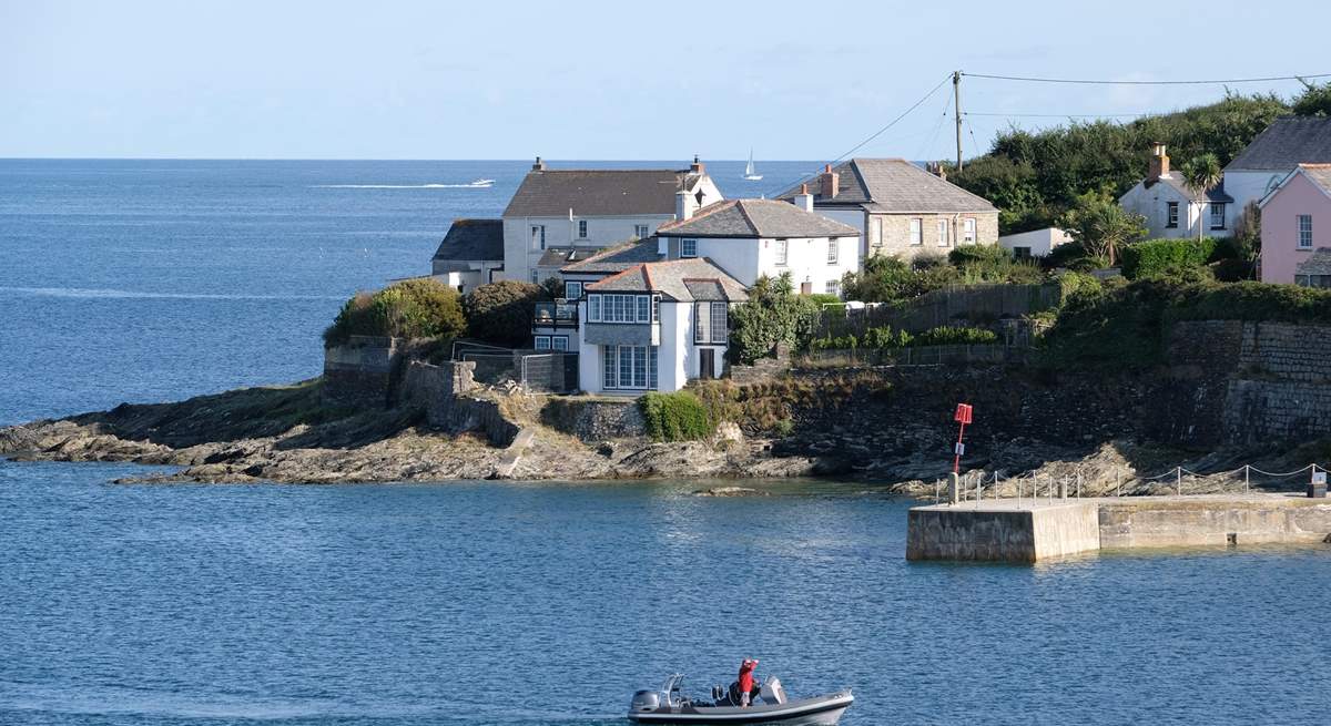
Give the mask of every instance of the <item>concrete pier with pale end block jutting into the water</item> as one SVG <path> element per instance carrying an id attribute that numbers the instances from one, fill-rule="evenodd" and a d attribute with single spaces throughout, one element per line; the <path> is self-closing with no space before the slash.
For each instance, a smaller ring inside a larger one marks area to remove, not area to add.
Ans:
<path id="1" fill-rule="evenodd" d="M 986 500 L 910 509 L 906 560 L 1034 562 L 1109 548 L 1320 543 L 1331 499 L 1199 495 Z"/>

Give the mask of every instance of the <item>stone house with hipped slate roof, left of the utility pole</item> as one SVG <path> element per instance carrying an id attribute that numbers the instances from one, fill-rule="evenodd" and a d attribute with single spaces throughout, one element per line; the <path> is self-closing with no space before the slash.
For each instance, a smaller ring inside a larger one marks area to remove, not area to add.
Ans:
<path id="1" fill-rule="evenodd" d="M 901 158 L 852 158 L 777 195 L 812 194 L 813 211 L 860 230 L 861 259 L 946 254 L 960 245 L 996 245 L 998 209 L 988 199 Z"/>

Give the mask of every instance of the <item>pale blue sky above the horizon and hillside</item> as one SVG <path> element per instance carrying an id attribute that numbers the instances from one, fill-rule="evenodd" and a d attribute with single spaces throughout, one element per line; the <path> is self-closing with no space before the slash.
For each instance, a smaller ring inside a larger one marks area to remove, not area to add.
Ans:
<path id="1" fill-rule="evenodd" d="M 1328 27 L 1315 0 L 0 0 L 0 157 L 833 160 L 937 86 L 856 156 L 952 158 L 953 70 L 1331 73 Z M 1225 88 L 964 77 L 961 92 L 969 157 L 1010 124 Z"/>

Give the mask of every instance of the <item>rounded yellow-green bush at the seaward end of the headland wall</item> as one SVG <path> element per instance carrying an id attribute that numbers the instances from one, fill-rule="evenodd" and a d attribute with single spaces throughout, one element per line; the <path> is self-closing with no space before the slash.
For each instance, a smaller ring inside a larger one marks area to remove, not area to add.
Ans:
<path id="1" fill-rule="evenodd" d="M 341 346 L 351 335 L 455 338 L 466 327 L 457 290 L 433 278 L 407 279 L 347 301 L 323 331 L 323 344 Z"/>

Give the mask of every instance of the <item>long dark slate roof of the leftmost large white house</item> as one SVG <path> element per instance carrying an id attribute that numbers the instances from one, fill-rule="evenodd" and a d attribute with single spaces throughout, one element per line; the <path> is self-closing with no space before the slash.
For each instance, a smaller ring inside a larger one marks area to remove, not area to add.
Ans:
<path id="1" fill-rule="evenodd" d="M 675 193 L 692 191 L 701 174 L 671 169 L 532 170 L 504 217 L 631 217 L 675 214 Z"/>

